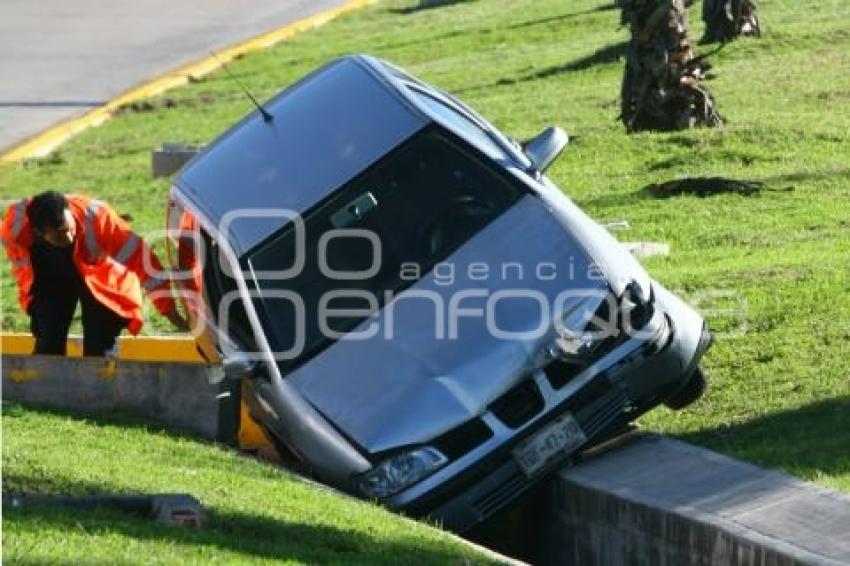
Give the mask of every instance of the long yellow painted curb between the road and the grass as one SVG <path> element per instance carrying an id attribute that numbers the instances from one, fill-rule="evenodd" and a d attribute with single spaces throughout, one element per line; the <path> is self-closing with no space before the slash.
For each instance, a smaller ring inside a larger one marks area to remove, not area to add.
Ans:
<path id="1" fill-rule="evenodd" d="M 82 132 L 86 128 L 102 124 L 108 120 L 116 110 L 125 104 L 149 98 L 175 86 L 186 84 L 189 81 L 189 77 L 202 77 L 220 67 L 222 62 L 227 63 L 228 61 L 232 61 L 236 57 L 246 53 L 271 47 L 276 43 L 303 31 L 324 25 L 346 12 L 362 8 L 369 4 L 370 1 L 371 0 L 352 0 L 338 8 L 331 8 L 329 10 L 319 12 L 318 14 L 298 20 L 297 22 L 293 22 L 269 33 L 265 33 L 253 39 L 249 39 L 248 41 L 228 47 L 216 53 L 215 57 L 205 57 L 199 61 L 195 61 L 194 63 L 183 65 L 182 67 L 174 69 L 170 73 L 166 73 L 159 78 L 142 83 L 136 88 L 128 90 L 106 105 L 96 108 L 79 118 L 59 123 L 35 137 L 12 147 L 0 155 L 0 162 L 12 163 L 20 161 L 21 159 L 47 155 L 56 149 L 56 147 L 62 142 Z"/>

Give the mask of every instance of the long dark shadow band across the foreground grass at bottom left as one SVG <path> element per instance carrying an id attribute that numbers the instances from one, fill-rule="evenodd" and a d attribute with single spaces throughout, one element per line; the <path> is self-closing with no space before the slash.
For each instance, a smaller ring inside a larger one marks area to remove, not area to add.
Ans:
<path id="1" fill-rule="evenodd" d="M 213 551 L 239 553 L 249 560 L 297 561 L 307 564 L 352 561 L 395 563 L 406 558 L 417 564 L 446 564 L 459 560 L 458 554 L 450 548 L 435 548 L 426 541 L 417 544 L 414 536 L 410 537 L 410 541 L 377 540 L 353 529 L 237 512 L 212 510 L 207 526 L 193 529 L 103 509 L 81 511 L 33 507 L 8 508 L 4 511 L 4 523 L 14 522 L 15 532 L 37 533 L 56 529 L 65 533 L 102 536 L 104 544 L 115 544 L 107 539 L 120 533 L 136 540 L 160 542 L 169 546 L 200 546 L 209 547 Z M 116 554 L 119 552 L 116 551 Z M 172 551 L 168 552 L 170 554 Z M 204 554 L 209 555 L 208 552 Z"/>

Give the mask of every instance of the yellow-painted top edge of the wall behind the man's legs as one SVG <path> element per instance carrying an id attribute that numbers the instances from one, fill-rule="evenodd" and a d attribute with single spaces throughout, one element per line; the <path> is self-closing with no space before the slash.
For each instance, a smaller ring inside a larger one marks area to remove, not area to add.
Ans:
<path id="1" fill-rule="evenodd" d="M 29 334 L 4 332 L 0 334 L 0 353 L 28 356 L 35 341 Z M 83 339 L 68 339 L 68 356 L 83 355 Z M 118 359 L 133 362 L 206 363 L 195 346 L 195 340 L 184 336 L 127 336 L 118 339 Z"/>

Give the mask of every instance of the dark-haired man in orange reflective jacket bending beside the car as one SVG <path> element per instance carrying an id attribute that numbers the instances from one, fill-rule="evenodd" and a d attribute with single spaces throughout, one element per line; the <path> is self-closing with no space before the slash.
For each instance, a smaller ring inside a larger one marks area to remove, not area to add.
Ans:
<path id="1" fill-rule="evenodd" d="M 21 199 L 6 212 L 0 235 L 36 354 L 65 354 L 77 301 L 86 356 L 113 350 L 123 328 L 139 332 L 142 289 L 172 324 L 186 326 L 156 255 L 101 201 L 55 191 Z"/>

